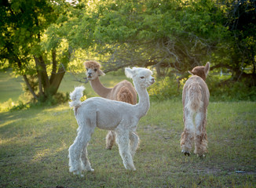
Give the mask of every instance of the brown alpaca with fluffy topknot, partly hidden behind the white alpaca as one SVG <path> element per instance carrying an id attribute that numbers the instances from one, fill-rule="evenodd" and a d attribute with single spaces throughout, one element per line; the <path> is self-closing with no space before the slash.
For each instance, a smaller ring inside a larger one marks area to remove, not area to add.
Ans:
<path id="1" fill-rule="evenodd" d="M 97 94 L 106 99 L 123 101 L 130 104 L 137 104 L 137 92 L 130 81 L 120 81 L 113 88 L 106 88 L 101 84 L 99 76 L 104 75 L 100 63 L 97 61 L 86 61 L 86 75 L 90 85 Z M 106 136 L 106 149 L 111 150 L 115 143 L 115 132 L 109 131 Z"/>

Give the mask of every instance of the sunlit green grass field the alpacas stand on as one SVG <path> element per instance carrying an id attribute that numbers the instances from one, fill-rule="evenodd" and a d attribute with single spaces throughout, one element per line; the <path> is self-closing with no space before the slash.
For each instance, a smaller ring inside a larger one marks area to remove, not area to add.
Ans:
<path id="1" fill-rule="evenodd" d="M 70 92 L 74 85 L 65 79 L 60 89 Z M 90 85 L 86 89 L 90 93 Z M 153 101 L 137 127 L 141 139 L 134 157 L 137 171 L 123 167 L 117 146 L 104 150 L 107 132 L 96 128 L 88 146 L 95 172 L 79 178 L 68 172 L 68 147 L 78 128 L 68 103 L 2 112 L 0 187 L 255 187 L 255 120 L 254 102 L 210 103 L 209 153 L 204 159 L 195 154 L 185 157 L 179 146 L 181 99 Z"/>

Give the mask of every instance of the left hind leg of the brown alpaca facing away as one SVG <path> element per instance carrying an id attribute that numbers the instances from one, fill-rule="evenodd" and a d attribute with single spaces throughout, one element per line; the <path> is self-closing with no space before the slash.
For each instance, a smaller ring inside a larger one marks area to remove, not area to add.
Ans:
<path id="1" fill-rule="evenodd" d="M 185 128 L 181 134 L 181 152 L 189 156 L 192 150 L 192 140 L 194 139 L 195 126 L 193 124 L 193 113 L 186 108 L 183 115 L 183 121 Z"/>

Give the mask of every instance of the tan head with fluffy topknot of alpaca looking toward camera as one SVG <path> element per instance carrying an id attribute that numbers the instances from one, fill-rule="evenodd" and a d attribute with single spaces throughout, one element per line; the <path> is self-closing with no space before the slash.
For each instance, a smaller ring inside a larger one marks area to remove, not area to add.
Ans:
<path id="1" fill-rule="evenodd" d="M 97 63 L 97 61 L 93 61 L 93 60 L 86 61 L 84 65 L 86 67 L 86 76 L 89 81 L 92 81 L 95 78 L 104 75 L 104 72 L 101 71 L 100 69 L 101 64 Z"/>

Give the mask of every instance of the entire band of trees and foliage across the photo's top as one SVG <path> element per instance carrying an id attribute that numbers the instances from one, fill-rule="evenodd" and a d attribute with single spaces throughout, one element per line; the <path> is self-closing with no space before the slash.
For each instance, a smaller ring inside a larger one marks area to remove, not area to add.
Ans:
<path id="1" fill-rule="evenodd" d="M 0 68 L 23 76 L 35 99 L 57 93 L 68 68 L 152 66 L 159 75 L 207 61 L 255 80 L 255 0 L 4 0 Z M 74 63 L 75 62 L 75 63 Z M 31 78 L 36 78 L 33 82 Z M 252 82 L 255 85 L 256 80 Z"/>

